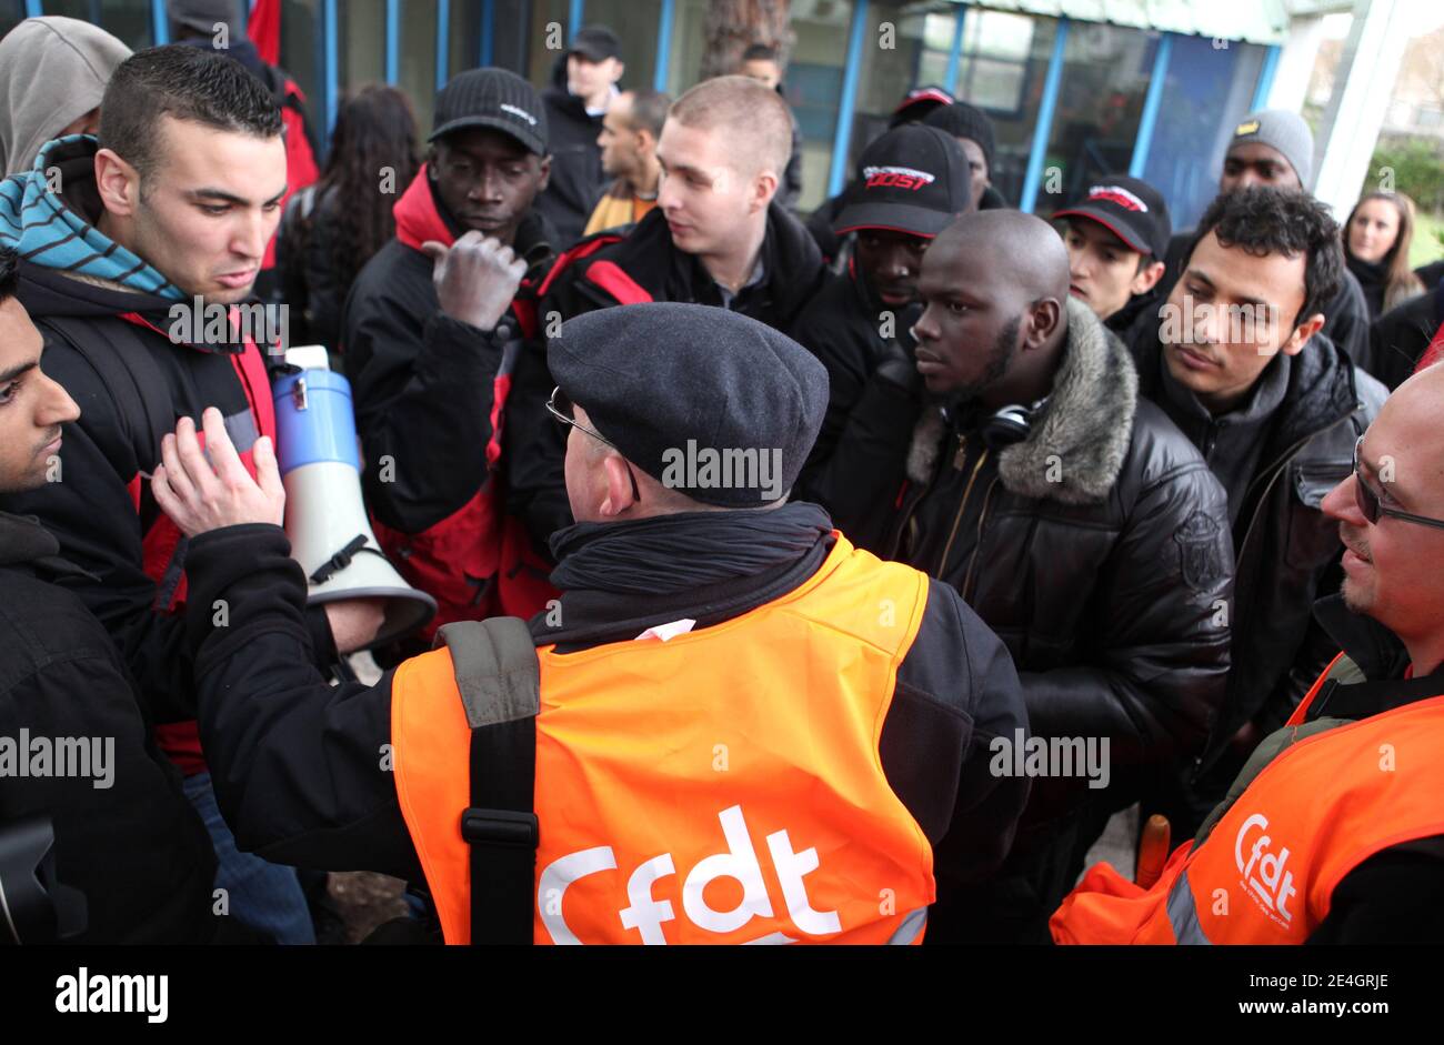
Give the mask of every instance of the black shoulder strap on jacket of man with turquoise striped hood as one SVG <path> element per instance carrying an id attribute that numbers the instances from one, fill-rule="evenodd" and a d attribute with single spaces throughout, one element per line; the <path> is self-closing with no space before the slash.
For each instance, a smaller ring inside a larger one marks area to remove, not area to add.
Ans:
<path id="1" fill-rule="evenodd" d="M 97 335 L 94 319 L 43 316 L 36 323 L 85 357 L 116 400 L 116 413 L 130 434 L 136 463 L 143 469 L 153 466 L 160 459 L 160 439 L 175 430 L 176 419 L 168 394 L 170 384 L 140 333 L 118 316 L 105 322 L 103 336 Z"/>

